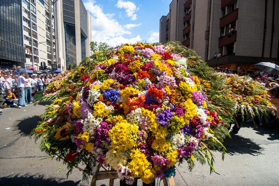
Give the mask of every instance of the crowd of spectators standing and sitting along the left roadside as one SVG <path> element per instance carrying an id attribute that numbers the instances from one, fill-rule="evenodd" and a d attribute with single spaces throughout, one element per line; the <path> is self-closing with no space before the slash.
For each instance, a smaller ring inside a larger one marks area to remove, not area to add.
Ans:
<path id="1" fill-rule="evenodd" d="M 32 104 L 32 97 L 42 91 L 56 77 L 55 73 L 17 72 L 20 67 L 13 66 L 0 73 L 0 107 L 22 108 Z M 2 115 L 2 111 L 0 111 Z"/>

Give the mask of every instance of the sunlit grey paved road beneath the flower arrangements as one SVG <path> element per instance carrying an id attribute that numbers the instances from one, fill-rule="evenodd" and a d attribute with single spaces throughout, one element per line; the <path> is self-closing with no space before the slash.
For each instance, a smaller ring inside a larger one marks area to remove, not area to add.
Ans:
<path id="1" fill-rule="evenodd" d="M 0 116 L 0 185 L 87 185 L 80 180 L 78 170 L 66 179 L 67 168 L 62 162 L 39 160 L 47 155 L 39 150 L 39 142 L 35 144 L 28 134 L 44 108 L 44 105 L 29 105 L 3 110 Z M 8 127 L 11 129 L 5 129 Z M 217 173 L 210 175 L 208 166 L 198 163 L 193 172 L 189 172 L 187 164 L 183 164 L 177 167 L 176 185 L 279 185 L 277 129 L 254 129 L 252 123 L 244 123 L 239 133 L 226 139 L 224 145 L 227 147 L 224 162 L 221 153 L 214 153 Z M 61 171 L 56 173 L 59 167 Z M 108 185 L 108 180 L 97 181 L 97 185 Z M 119 181 L 114 185 L 119 185 Z"/>

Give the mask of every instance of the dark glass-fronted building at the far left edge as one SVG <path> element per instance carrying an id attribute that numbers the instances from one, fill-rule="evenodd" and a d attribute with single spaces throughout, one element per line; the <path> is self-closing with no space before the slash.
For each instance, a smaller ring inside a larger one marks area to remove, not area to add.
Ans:
<path id="1" fill-rule="evenodd" d="M 0 1 L 0 65 L 24 65 L 21 1 Z"/>

